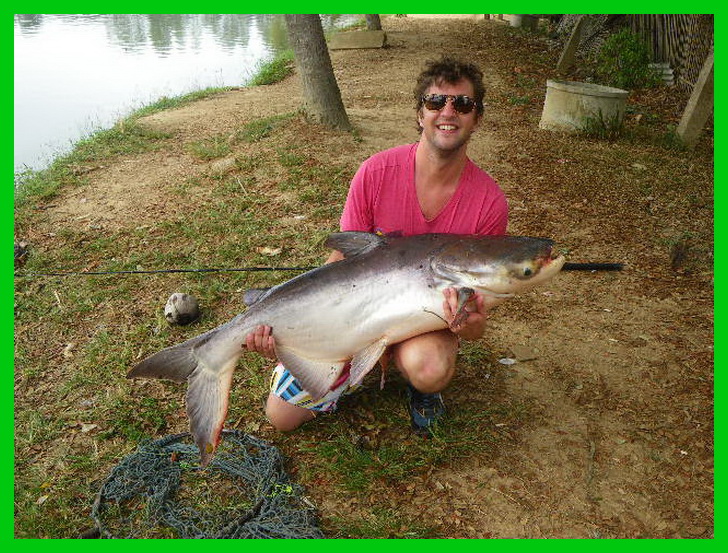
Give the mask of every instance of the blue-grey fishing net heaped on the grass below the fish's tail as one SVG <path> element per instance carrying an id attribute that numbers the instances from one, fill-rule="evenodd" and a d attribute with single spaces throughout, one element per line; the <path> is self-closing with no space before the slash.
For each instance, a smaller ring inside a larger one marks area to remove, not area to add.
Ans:
<path id="1" fill-rule="evenodd" d="M 323 538 L 280 452 L 223 431 L 205 469 L 189 433 L 143 443 L 111 471 L 91 509 L 102 538 Z"/>

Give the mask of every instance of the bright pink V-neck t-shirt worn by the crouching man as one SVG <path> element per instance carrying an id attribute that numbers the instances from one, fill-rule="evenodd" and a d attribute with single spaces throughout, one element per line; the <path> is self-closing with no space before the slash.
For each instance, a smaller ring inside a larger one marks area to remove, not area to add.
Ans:
<path id="1" fill-rule="evenodd" d="M 447 205 L 425 219 L 415 191 L 417 142 L 373 155 L 354 175 L 341 215 L 341 230 L 411 236 L 505 234 L 508 203 L 493 178 L 468 159 Z"/>

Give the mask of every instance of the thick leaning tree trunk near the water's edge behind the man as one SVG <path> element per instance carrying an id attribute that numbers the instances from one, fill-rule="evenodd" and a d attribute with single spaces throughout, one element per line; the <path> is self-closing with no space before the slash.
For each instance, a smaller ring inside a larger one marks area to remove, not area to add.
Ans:
<path id="1" fill-rule="evenodd" d="M 286 28 L 301 76 L 304 109 L 327 127 L 350 130 L 318 14 L 286 14 Z"/>

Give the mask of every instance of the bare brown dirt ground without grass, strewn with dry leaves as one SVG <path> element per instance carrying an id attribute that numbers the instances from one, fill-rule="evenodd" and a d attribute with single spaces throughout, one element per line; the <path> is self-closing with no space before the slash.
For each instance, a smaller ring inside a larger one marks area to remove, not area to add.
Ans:
<path id="1" fill-rule="evenodd" d="M 432 518 L 456 513 L 453 537 L 712 537 L 712 157 L 679 154 L 684 172 L 675 180 L 689 191 L 675 191 L 655 176 L 650 147 L 615 159 L 609 143 L 580 147 L 539 131 L 543 97 L 514 98 L 529 79 L 544 82 L 544 59 L 557 59 L 543 40 L 509 38 L 489 22 L 391 18 L 384 28 L 386 49 L 332 53 L 358 146 L 336 148 L 333 132 L 302 140 L 330 144 L 337 162 L 412 142 L 411 89 L 423 60 L 468 57 L 484 70 L 489 103 L 469 154 L 506 192 L 509 233 L 555 238 L 573 261 L 625 263 L 620 273 L 562 274 L 499 308 L 489 348 L 502 357 L 516 346 L 535 353 L 499 369 L 509 376 L 505 393 L 529 405 L 530 419 L 497 463 L 438 469 L 410 508 Z M 144 124 L 200 139 L 300 102 L 293 77 Z M 93 186 L 69 192 L 48 215 L 99 228 L 143 225 L 165 209 L 170 182 L 210 168 L 182 152 L 136 156 L 95 171 Z M 620 188 L 635 174 L 644 175 L 642 189 Z M 687 262 L 676 260 L 676 247 Z"/>

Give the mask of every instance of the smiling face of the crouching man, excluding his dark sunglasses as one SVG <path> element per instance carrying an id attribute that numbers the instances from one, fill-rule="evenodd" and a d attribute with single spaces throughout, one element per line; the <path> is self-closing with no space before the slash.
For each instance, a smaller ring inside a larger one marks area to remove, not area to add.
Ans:
<path id="1" fill-rule="evenodd" d="M 463 79 L 455 84 L 445 82 L 434 84 L 427 89 L 425 95 L 464 94 L 473 98 L 474 93 L 473 84 Z M 480 122 L 477 108 L 470 113 L 459 113 L 453 107 L 452 100 L 448 100 L 445 107 L 439 111 L 429 110 L 423 105 L 420 107 L 418 120 L 422 126 L 422 140 L 443 153 L 464 148 Z"/>

